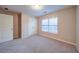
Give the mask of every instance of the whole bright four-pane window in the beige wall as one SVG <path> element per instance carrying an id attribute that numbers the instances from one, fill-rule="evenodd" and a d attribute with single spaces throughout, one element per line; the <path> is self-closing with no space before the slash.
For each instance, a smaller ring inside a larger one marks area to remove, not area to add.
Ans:
<path id="1" fill-rule="evenodd" d="M 42 31 L 57 33 L 58 32 L 58 18 L 52 17 L 42 20 Z"/>

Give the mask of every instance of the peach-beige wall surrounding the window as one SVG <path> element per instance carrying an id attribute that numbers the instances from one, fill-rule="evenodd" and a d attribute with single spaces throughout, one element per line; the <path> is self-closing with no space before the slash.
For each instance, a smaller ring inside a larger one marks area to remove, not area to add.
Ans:
<path id="1" fill-rule="evenodd" d="M 41 20 L 48 17 L 58 17 L 58 34 L 41 31 Z M 63 9 L 45 16 L 38 17 L 38 33 L 40 35 L 55 38 L 66 43 L 76 44 L 76 8 Z"/>

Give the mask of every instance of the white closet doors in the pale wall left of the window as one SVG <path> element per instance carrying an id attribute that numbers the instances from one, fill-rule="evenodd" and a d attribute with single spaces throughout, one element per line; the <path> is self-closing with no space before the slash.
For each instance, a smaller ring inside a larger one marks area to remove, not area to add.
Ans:
<path id="1" fill-rule="evenodd" d="M 28 20 L 28 35 L 33 35 L 37 33 L 37 22 L 35 17 L 29 17 Z"/>

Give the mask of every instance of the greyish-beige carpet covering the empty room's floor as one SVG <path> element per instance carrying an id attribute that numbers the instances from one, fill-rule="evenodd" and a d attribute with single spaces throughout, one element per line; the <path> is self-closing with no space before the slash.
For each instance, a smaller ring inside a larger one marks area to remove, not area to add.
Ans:
<path id="1" fill-rule="evenodd" d="M 34 35 L 0 44 L 0 53 L 75 53 L 75 47 L 54 39 Z"/>

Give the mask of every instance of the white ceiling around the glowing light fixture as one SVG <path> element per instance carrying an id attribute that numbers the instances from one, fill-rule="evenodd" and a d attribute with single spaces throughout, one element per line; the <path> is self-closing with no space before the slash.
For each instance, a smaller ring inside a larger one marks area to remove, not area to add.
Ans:
<path id="1" fill-rule="evenodd" d="M 31 5 L 1 5 L 0 7 L 8 8 L 9 10 L 12 10 L 12 11 L 23 12 L 31 16 L 42 16 L 64 8 L 72 7 L 72 5 L 44 5 L 43 9 L 34 10 L 30 6 Z M 45 13 L 45 11 L 47 13 Z"/>

